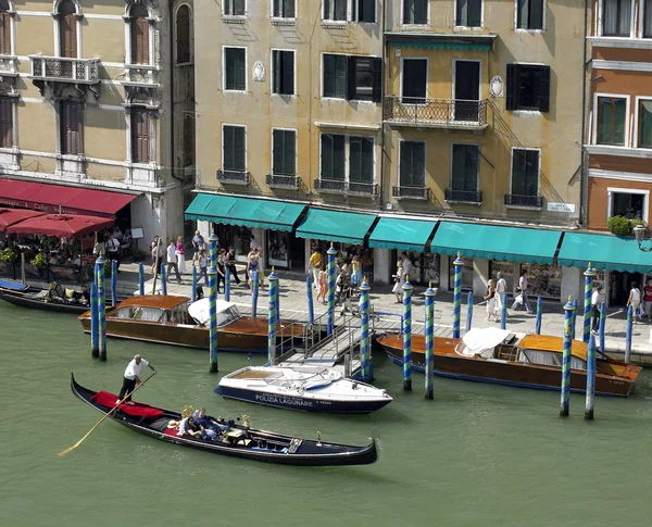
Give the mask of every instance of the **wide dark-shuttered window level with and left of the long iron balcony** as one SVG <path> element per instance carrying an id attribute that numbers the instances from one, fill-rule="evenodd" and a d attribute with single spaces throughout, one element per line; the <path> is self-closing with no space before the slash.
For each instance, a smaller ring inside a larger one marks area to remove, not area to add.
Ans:
<path id="1" fill-rule="evenodd" d="M 380 102 L 380 68 L 381 59 L 324 54 L 324 97 Z"/>

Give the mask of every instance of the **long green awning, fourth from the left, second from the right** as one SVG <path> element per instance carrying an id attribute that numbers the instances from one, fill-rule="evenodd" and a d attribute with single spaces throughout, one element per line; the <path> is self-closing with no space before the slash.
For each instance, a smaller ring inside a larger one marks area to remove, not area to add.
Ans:
<path id="1" fill-rule="evenodd" d="M 440 222 L 430 252 L 552 264 L 562 233 L 475 223 Z"/>

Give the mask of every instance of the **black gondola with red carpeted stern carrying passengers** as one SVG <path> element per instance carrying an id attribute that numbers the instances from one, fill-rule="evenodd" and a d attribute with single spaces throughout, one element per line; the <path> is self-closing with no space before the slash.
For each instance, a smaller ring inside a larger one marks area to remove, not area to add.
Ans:
<path id="1" fill-rule="evenodd" d="M 71 388 L 75 396 L 102 414 L 108 414 L 116 400 L 113 393 L 84 388 L 77 384 L 73 374 Z M 351 447 L 258 430 L 233 421 L 221 421 L 226 429 L 212 441 L 179 437 L 177 430 L 170 427 L 170 423 L 178 422 L 180 413 L 137 402 L 134 405 L 121 404 L 110 418 L 134 431 L 174 444 L 265 463 L 303 466 L 368 465 L 378 459 L 375 441 L 366 447 Z"/>

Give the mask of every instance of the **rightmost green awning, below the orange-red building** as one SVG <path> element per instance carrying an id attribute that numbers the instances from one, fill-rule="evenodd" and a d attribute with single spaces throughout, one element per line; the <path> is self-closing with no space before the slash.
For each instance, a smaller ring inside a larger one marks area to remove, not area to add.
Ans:
<path id="1" fill-rule="evenodd" d="M 557 256 L 560 265 L 629 273 L 652 273 L 652 253 L 639 249 L 634 238 L 566 233 Z"/>

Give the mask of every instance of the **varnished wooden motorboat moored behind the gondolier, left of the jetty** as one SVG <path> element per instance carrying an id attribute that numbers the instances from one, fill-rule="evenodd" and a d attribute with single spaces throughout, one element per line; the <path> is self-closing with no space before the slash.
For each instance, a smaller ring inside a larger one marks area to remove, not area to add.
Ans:
<path id="1" fill-rule="evenodd" d="M 208 301 L 208 299 L 204 299 Z M 200 300 L 201 304 L 205 303 Z M 195 305 L 195 304 L 192 304 Z M 130 297 L 106 310 L 106 335 L 147 342 L 209 349 L 205 319 L 193 318 L 188 297 L 150 294 Z M 201 311 L 201 310 L 197 310 Z M 205 310 L 204 310 L 205 311 Z M 90 312 L 79 316 L 85 332 L 90 332 Z M 281 321 L 277 341 L 298 344 L 303 324 Z M 217 349 L 243 353 L 267 352 L 267 318 L 240 315 L 236 304 L 217 301 Z"/>

